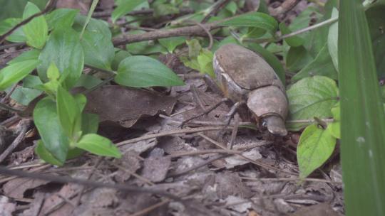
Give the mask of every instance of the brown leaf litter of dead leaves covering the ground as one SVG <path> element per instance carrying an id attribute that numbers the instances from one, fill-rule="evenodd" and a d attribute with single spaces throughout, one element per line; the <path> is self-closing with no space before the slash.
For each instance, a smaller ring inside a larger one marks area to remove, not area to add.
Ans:
<path id="1" fill-rule="evenodd" d="M 102 9 L 111 9 L 112 1 L 101 2 L 104 2 Z M 287 17 L 292 19 L 297 11 L 306 6 L 301 1 Z M 192 72 L 173 55 L 162 56 L 160 60 L 180 74 Z M 115 136 L 118 137 L 117 142 L 160 131 L 178 131 L 184 119 L 204 112 L 222 99 L 210 91 L 201 79 L 185 82 L 186 86 L 162 89 L 160 92 L 156 88 L 104 86 L 86 95 L 86 112 L 99 115 L 102 123 L 99 131 L 105 130 L 106 133 L 113 124 L 112 130 L 119 131 Z M 191 90 L 192 85 L 195 92 Z M 186 126 L 221 122 L 229 111 L 227 104 L 222 104 Z M 232 125 L 233 122 L 230 123 Z M 269 167 L 266 168 L 235 153 L 212 151 L 220 147 L 205 136 L 225 147 L 230 141 L 231 131 L 223 131 L 204 131 L 203 136 L 173 134 L 125 144 L 120 146 L 123 157 L 113 161 L 86 154 L 56 168 L 28 161 L 33 159 L 30 149 L 26 153 L 24 150 L 16 151 L 19 156 L 7 161 L 13 166 L 25 166 L 24 170 L 34 173 L 58 173 L 103 183 L 165 190 L 184 198 L 184 203 L 146 193 L 125 193 L 25 178 L 8 180 L 1 175 L 0 212 L 4 215 L 14 212 L 20 215 L 128 215 L 154 206 L 155 210 L 143 215 L 302 216 L 312 212 L 317 216 L 339 215 L 336 210 L 344 212 L 341 170 L 337 165 L 329 174 L 320 169 L 312 175 L 321 180 L 326 178 L 324 181 L 309 180 L 297 184 L 298 167 L 291 153 L 298 142 L 295 140 L 297 134 L 293 134 L 292 140 L 266 141 L 262 136 L 256 136 L 252 129 L 239 129 L 233 150 L 241 151 L 242 156 Z M 178 156 L 180 153 L 185 155 Z"/>

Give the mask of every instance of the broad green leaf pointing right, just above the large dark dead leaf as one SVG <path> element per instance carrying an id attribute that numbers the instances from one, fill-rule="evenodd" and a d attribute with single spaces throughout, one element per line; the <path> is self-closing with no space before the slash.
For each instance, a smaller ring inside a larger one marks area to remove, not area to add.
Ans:
<path id="1" fill-rule="evenodd" d="M 163 63 L 142 55 L 131 56 L 120 62 L 115 81 L 128 87 L 185 85 Z"/>

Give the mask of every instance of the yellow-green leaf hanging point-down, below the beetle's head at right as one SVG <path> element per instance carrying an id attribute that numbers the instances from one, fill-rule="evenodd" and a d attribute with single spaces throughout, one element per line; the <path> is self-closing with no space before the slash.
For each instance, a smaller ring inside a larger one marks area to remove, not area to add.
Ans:
<path id="1" fill-rule="evenodd" d="M 332 155 L 336 139 L 329 131 L 312 124 L 307 126 L 299 138 L 297 161 L 299 178 L 306 178 L 315 169 L 322 166 Z"/>

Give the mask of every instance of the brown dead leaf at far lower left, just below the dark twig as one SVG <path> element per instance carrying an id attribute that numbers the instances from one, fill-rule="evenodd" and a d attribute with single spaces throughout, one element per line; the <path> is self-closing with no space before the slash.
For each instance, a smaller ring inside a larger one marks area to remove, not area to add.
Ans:
<path id="1" fill-rule="evenodd" d="M 3 191 L 4 195 L 7 195 L 10 198 L 24 198 L 26 190 L 34 189 L 47 183 L 46 180 L 15 178 L 4 184 Z"/>

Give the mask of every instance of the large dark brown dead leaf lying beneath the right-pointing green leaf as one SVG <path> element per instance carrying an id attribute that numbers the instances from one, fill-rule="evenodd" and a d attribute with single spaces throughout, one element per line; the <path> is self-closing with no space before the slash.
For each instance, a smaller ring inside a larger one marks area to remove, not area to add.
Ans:
<path id="1" fill-rule="evenodd" d="M 176 102 L 173 97 L 118 85 L 101 87 L 86 97 L 86 112 L 98 114 L 101 122 L 113 121 L 125 128 L 141 117 L 170 114 Z"/>

